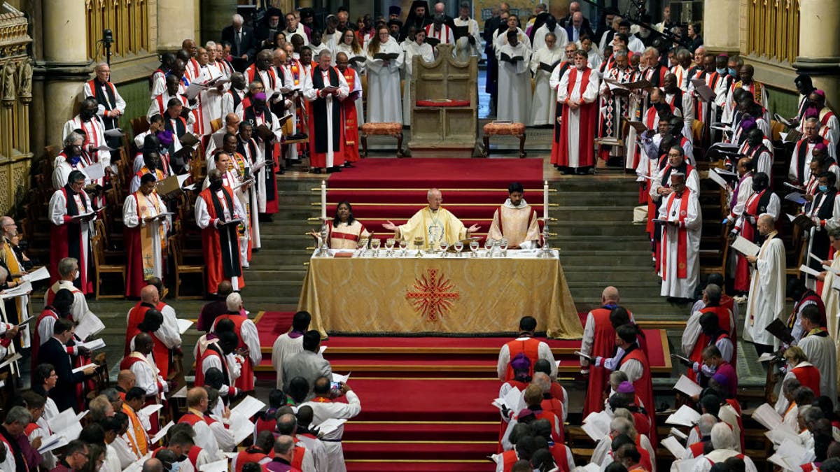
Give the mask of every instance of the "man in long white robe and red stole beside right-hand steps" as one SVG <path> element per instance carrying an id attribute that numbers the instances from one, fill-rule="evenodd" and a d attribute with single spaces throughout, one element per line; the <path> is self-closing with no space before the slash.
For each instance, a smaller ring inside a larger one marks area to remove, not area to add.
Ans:
<path id="1" fill-rule="evenodd" d="M 700 281 L 701 227 L 703 219 L 697 194 L 685 186 L 685 175 L 671 173 L 673 192 L 659 208 L 662 225 L 660 276 L 662 296 L 690 298 Z"/>

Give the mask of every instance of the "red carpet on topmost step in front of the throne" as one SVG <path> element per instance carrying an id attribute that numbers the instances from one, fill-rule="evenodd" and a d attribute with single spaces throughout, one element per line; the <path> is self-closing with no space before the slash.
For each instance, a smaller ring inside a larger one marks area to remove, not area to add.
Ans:
<path id="1" fill-rule="evenodd" d="M 519 181 L 542 188 L 543 160 L 369 159 L 355 169 L 329 176 L 329 187 L 341 188 L 507 188 Z"/>

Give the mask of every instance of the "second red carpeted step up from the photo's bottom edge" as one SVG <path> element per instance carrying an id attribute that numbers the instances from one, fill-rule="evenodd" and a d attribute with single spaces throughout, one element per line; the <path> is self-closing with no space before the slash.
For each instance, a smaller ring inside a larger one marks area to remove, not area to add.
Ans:
<path id="1" fill-rule="evenodd" d="M 342 442 L 345 459 L 486 459 L 496 454 L 495 441 Z M 488 459 L 489 460 L 489 459 Z"/>

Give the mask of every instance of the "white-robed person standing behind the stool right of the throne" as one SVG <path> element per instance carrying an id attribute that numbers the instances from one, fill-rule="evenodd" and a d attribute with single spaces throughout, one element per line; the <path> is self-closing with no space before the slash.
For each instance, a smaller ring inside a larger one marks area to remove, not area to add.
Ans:
<path id="1" fill-rule="evenodd" d="M 503 60 L 508 58 L 522 58 L 511 63 Z M 531 74 L 528 72 L 528 61 L 531 60 L 531 50 L 519 42 L 517 33 L 507 33 L 507 45 L 496 50 L 499 60 L 499 104 L 496 107 L 496 119 L 513 123 L 528 123 L 531 118 L 528 108 L 531 107 Z"/>

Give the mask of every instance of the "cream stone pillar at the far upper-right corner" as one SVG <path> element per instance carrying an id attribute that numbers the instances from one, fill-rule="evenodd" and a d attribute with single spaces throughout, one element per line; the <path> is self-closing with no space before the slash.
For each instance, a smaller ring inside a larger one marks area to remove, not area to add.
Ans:
<path id="1" fill-rule="evenodd" d="M 826 92 L 833 106 L 840 103 L 840 3 L 799 2 L 799 55 L 793 63 L 800 74 L 812 76 L 814 87 Z"/>

